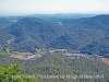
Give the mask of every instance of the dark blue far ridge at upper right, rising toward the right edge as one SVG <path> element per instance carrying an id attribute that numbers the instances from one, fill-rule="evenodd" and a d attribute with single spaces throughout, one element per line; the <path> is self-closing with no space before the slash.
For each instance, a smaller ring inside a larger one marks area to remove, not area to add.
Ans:
<path id="1" fill-rule="evenodd" d="M 64 26 L 69 30 L 76 28 L 97 28 L 106 30 L 109 28 L 109 15 L 97 15 L 93 17 L 82 17 L 75 20 L 63 20 Z"/>

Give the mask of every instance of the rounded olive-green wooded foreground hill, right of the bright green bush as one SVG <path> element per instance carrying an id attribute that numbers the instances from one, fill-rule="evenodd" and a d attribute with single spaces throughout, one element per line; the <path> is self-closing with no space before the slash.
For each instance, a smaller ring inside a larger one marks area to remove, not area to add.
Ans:
<path id="1" fill-rule="evenodd" d="M 31 70 L 31 71 L 29 71 Z M 40 82 L 108 82 L 109 66 L 97 61 L 95 59 L 74 58 L 69 59 L 61 54 L 52 54 L 44 56 L 39 62 L 28 67 L 25 72 L 34 75 L 85 75 L 85 74 L 99 74 L 100 79 L 71 79 L 71 78 L 41 78 L 38 77 Z M 45 81 L 44 81 L 45 80 Z"/>

